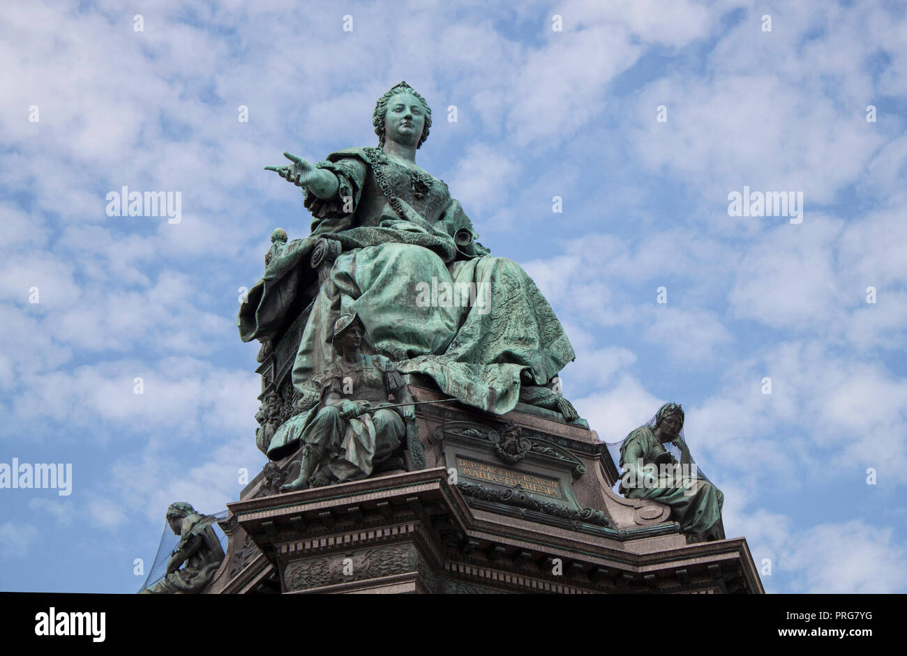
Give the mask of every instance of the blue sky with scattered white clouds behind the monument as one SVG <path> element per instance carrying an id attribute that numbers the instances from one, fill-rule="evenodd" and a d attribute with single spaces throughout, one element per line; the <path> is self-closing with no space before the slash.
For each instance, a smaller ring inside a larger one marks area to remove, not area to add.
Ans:
<path id="1" fill-rule="evenodd" d="M 417 162 L 550 300 L 600 438 L 683 403 L 767 591 L 907 592 L 905 34 L 886 2 L 5 7 L 0 463 L 73 488 L 0 489 L 0 590 L 132 592 L 172 501 L 238 497 L 264 464 L 240 288 L 310 220 L 262 167 L 374 144 L 406 80 Z M 107 216 L 124 185 L 180 222 Z M 802 192 L 802 223 L 729 216 L 744 186 Z"/>

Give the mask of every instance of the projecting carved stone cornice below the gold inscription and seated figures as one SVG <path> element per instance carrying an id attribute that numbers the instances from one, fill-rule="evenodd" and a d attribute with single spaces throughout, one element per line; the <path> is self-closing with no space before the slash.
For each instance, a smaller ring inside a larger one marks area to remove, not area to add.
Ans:
<path id="1" fill-rule="evenodd" d="M 762 592 L 742 538 L 686 545 L 676 523 L 629 530 L 581 523 L 588 530 L 575 531 L 483 512 L 471 500 L 479 499 L 434 468 L 232 503 L 239 526 L 267 555 L 239 572 L 241 584 L 221 589 L 255 589 L 268 570 L 297 593 Z M 358 574 L 343 574 L 346 558 Z M 299 583 L 307 577 L 311 583 Z"/>

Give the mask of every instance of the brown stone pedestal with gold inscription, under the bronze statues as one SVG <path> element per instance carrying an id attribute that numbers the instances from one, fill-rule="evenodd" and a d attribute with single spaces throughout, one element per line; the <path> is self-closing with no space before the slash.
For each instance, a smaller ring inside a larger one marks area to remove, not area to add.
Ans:
<path id="1" fill-rule="evenodd" d="M 207 592 L 764 592 L 744 538 L 688 544 L 667 506 L 612 492 L 617 472 L 581 420 L 416 409 L 427 468 L 288 494 L 274 490 L 293 456 L 260 473 L 228 506 Z"/>

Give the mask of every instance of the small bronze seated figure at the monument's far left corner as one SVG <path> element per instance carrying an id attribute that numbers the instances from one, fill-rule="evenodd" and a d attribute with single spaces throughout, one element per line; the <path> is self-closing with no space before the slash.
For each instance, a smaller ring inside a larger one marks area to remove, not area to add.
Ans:
<path id="1" fill-rule="evenodd" d="M 141 593 L 198 593 L 209 584 L 224 559 L 223 548 L 212 527 L 216 521 L 183 501 L 171 504 L 167 508 L 167 523 L 180 536 L 180 543 L 167 563 L 164 578 Z"/>

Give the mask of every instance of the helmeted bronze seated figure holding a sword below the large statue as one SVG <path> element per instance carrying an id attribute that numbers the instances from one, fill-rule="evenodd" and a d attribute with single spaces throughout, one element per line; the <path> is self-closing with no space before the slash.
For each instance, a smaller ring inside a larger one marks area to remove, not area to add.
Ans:
<path id="1" fill-rule="evenodd" d="M 271 439 L 267 454 L 272 460 L 304 445 L 299 475 L 282 491 L 366 478 L 393 458 L 401 444 L 412 457 L 422 458 L 403 377 L 387 358 L 361 352 L 363 333 L 355 314 L 337 319 L 332 335 L 336 358 L 318 376 L 320 403 L 291 417 Z M 392 405 L 389 397 L 397 407 L 383 407 Z"/>

